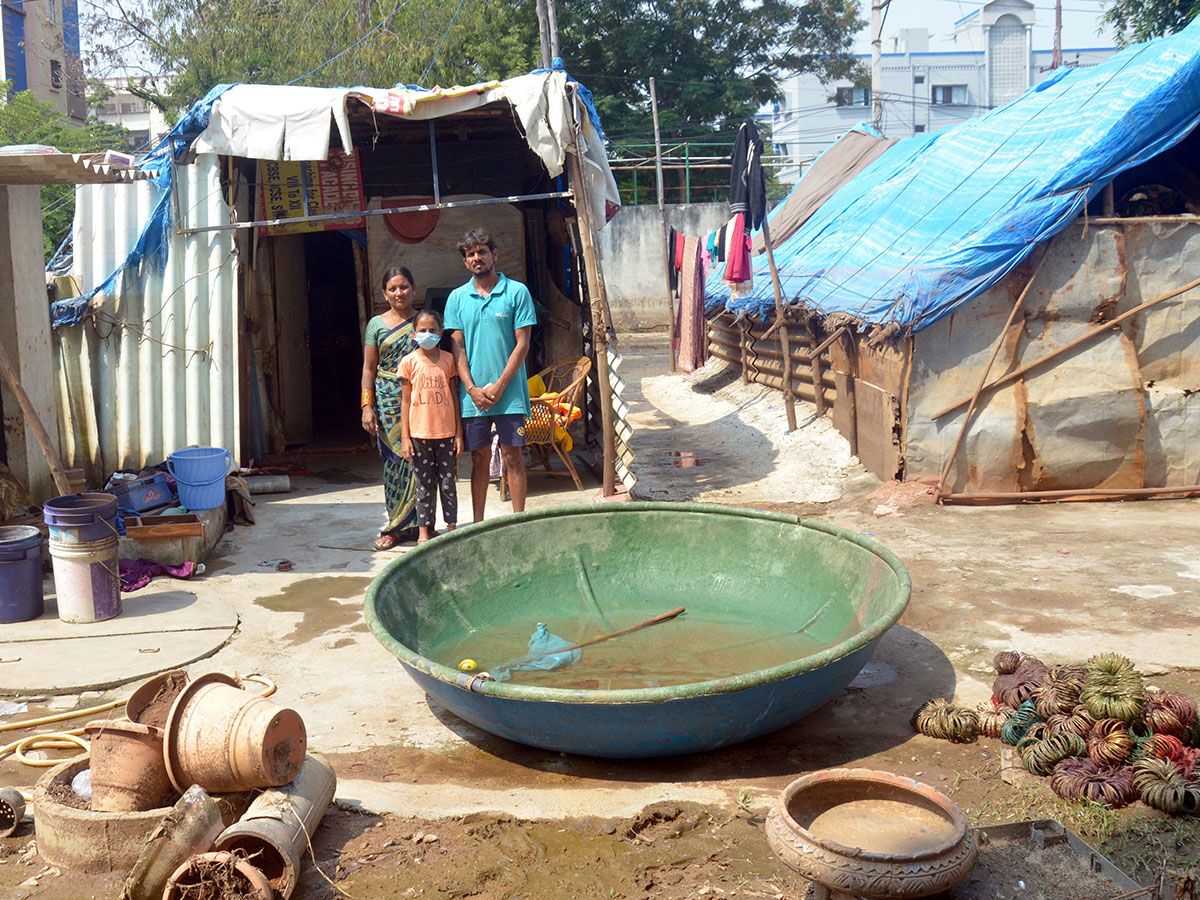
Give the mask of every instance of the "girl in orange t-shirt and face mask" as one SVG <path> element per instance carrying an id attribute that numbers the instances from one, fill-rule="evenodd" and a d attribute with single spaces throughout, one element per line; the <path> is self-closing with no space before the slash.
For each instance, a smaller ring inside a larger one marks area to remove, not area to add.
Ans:
<path id="1" fill-rule="evenodd" d="M 401 452 L 413 463 L 416 481 L 416 542 L 433 536 L 433 515 L 442 494 L 446 530 L 458 522 L 458 455 L 462 418 L 458 412 L 457 368 L 454 355 L 438 349 L 442 317 L 432 310 L 416 313 L 413 343 L 416 349 L 400 362 L 403 388 Z"/>

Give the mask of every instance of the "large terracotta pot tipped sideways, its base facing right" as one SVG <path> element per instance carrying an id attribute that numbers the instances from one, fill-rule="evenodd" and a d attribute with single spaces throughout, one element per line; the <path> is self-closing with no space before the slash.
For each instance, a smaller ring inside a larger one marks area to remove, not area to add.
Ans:
<path id="1" fill-rule="evenodd" d="M 307 746 L 299 713 L 220 672 L 188 684 L 167 718 L 167 774 L 179 791 L 280 787 L 299 774 Z"/>

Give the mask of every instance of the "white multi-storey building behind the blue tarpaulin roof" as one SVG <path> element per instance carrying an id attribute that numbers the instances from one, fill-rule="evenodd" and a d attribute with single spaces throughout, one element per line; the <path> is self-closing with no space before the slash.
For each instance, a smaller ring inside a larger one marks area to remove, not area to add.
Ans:
<path id="1" fill-rule="evenodd" d="M 1040 82 L 1052 68 L 1052 50 L 1033 49 L 1033 4 L 991 0 L 954 23 L 954 49 L 930 50 L 928 29 L 904 29 L 883 46 L 883 133 L 904 138 L 956 125 L 1003 106 Z M 1094 66 L 1112 47 L 1064 49 L 1064 66 Z M 870 54 L 858 56 L 870 66 Z M 776 152 L 797 166 L 779 169 L 796 181 L 800 166 L 840 134 L 871 120 L 871 89 L 865 84 L 822 84 L 816 76 L 793 76 L 772 115 Z"/>

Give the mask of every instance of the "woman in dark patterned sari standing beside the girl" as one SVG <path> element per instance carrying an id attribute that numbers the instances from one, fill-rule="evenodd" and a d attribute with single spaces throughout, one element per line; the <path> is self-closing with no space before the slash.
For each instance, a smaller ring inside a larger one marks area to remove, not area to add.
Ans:
<path id="1" fill-rule="evenodd" d="M 401 391 L 396 370 L 413 349 L 413 296 L 416 284 L 404 266 L 384 272 L 388 311 L 367 323 L 362 342 L 362 428 L 373 434 L 383 457 L 383 492 L 388 505 L 376 550 L 416 540 L 416 486 L 413 464 L 401 454 Z"/>

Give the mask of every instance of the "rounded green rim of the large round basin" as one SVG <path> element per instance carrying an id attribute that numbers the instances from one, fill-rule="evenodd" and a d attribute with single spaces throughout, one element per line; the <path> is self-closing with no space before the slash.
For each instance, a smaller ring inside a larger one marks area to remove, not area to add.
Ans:
<path id="1" fill-rule="evenodd" d="M 419 672 L 424 672 L 438 680 L 454 684 L 467 690 L 468 676 L 457 668 L 444 666 L 431 659 L 421 656 L 409 647 L 402 644 L 384 629 L 376 612 L 379 584 L 388 580 L 397 569 L 413 564 L 424 554 L 437 553 L 449 548 L 456 541 L 469 540 L 476 534 L 499 528 L 512 528 L 522 522 L 545 518 L 565 518 L 578 515 L 634 515 L 638 512 L 703 512 L 718 516 L 733 516 L 740 518 L 755 518 L 766 522 L 779 522 L 781 524 L 794 524 L 800 528 L 811 528 L 815 532 L 824 532 L 839 540 L 857 544 L 882 559 L 896 576 L 899 590 L 893 602 L 876 616 L 869 626 L 845 641 L 828 647 L 820 653 L 814 653 L 803 659 L 791 660 L 772 668 L 761 668 L 755 672 L 746 672 L 730 678 L 718 678 L 708 682 L 692 682 L 690 684 L 676 684 L 667 688 L 630 688 L 625 690 L 572 690 L 566 688 L 539 688 L 533 685 L 512 684 L 510 682 L 486 682 L 476 680 L 474 692 L 505 700 L 529 700 L 551 703 L 662 703 L 672 700 L 686 700 L 701 697 L 710 694 L 728 694 L 732 691 L 756 688 L 772 682 L 781 682 L 805 672 L 812 672 L 835 660 L 847 656 L 856 650 L 870 644 L 883 636 L 883 632 L 892 628 L 904 614 L 908 605 L 908 596 L 912 592 L 912 581 L 904 563 L 887 547 L 862 534 L 840 528 L 812 518 L 798 518 L 784 512 L 766 512 L 762 510 L 739 509 L 736 506 L 721 506 L 712 503 L 670 503 L 654 500 L 648 503 L 620 503 L 612 506 L 596 504 L 575 504 L 569 506 L 556 506 L 554 509 L 539 510 L 535 512 L 517 512 L 499 518 L 492 518 L 469 526 L 460 526 L 454 532 L 439 536 L 436 541 L 420 545 L 394 559 L 379 572 L 367 588 L 365 613 L 367 625 L 379 642 L 388 648 L 401 661 L 412 666 Z"/>

